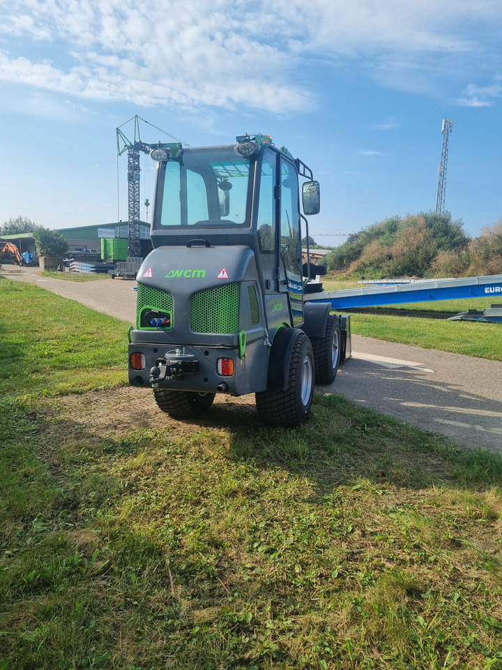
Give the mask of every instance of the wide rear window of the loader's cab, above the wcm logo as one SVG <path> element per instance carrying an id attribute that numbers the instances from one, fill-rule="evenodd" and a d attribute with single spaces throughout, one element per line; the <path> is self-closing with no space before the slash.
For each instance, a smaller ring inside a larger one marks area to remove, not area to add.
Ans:
<path id="1" fill-rule="evenodd" d="M 249 172 L 234 147 L 183 149 L 160 170 L 154 228 L 248 227 Z"/>

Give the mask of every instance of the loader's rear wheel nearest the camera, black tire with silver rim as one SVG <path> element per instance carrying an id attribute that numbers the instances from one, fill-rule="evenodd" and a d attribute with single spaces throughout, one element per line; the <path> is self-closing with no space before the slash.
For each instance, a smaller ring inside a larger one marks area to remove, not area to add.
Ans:
<path id="1" fill-rule="evenodd" d="M 254 394 L 258 416 L 271 426 L 299 426 L 307 421 L 314 397 L 314 352 L 310 339 L 299 334 L 291 351 L 286 391 Z"/>

